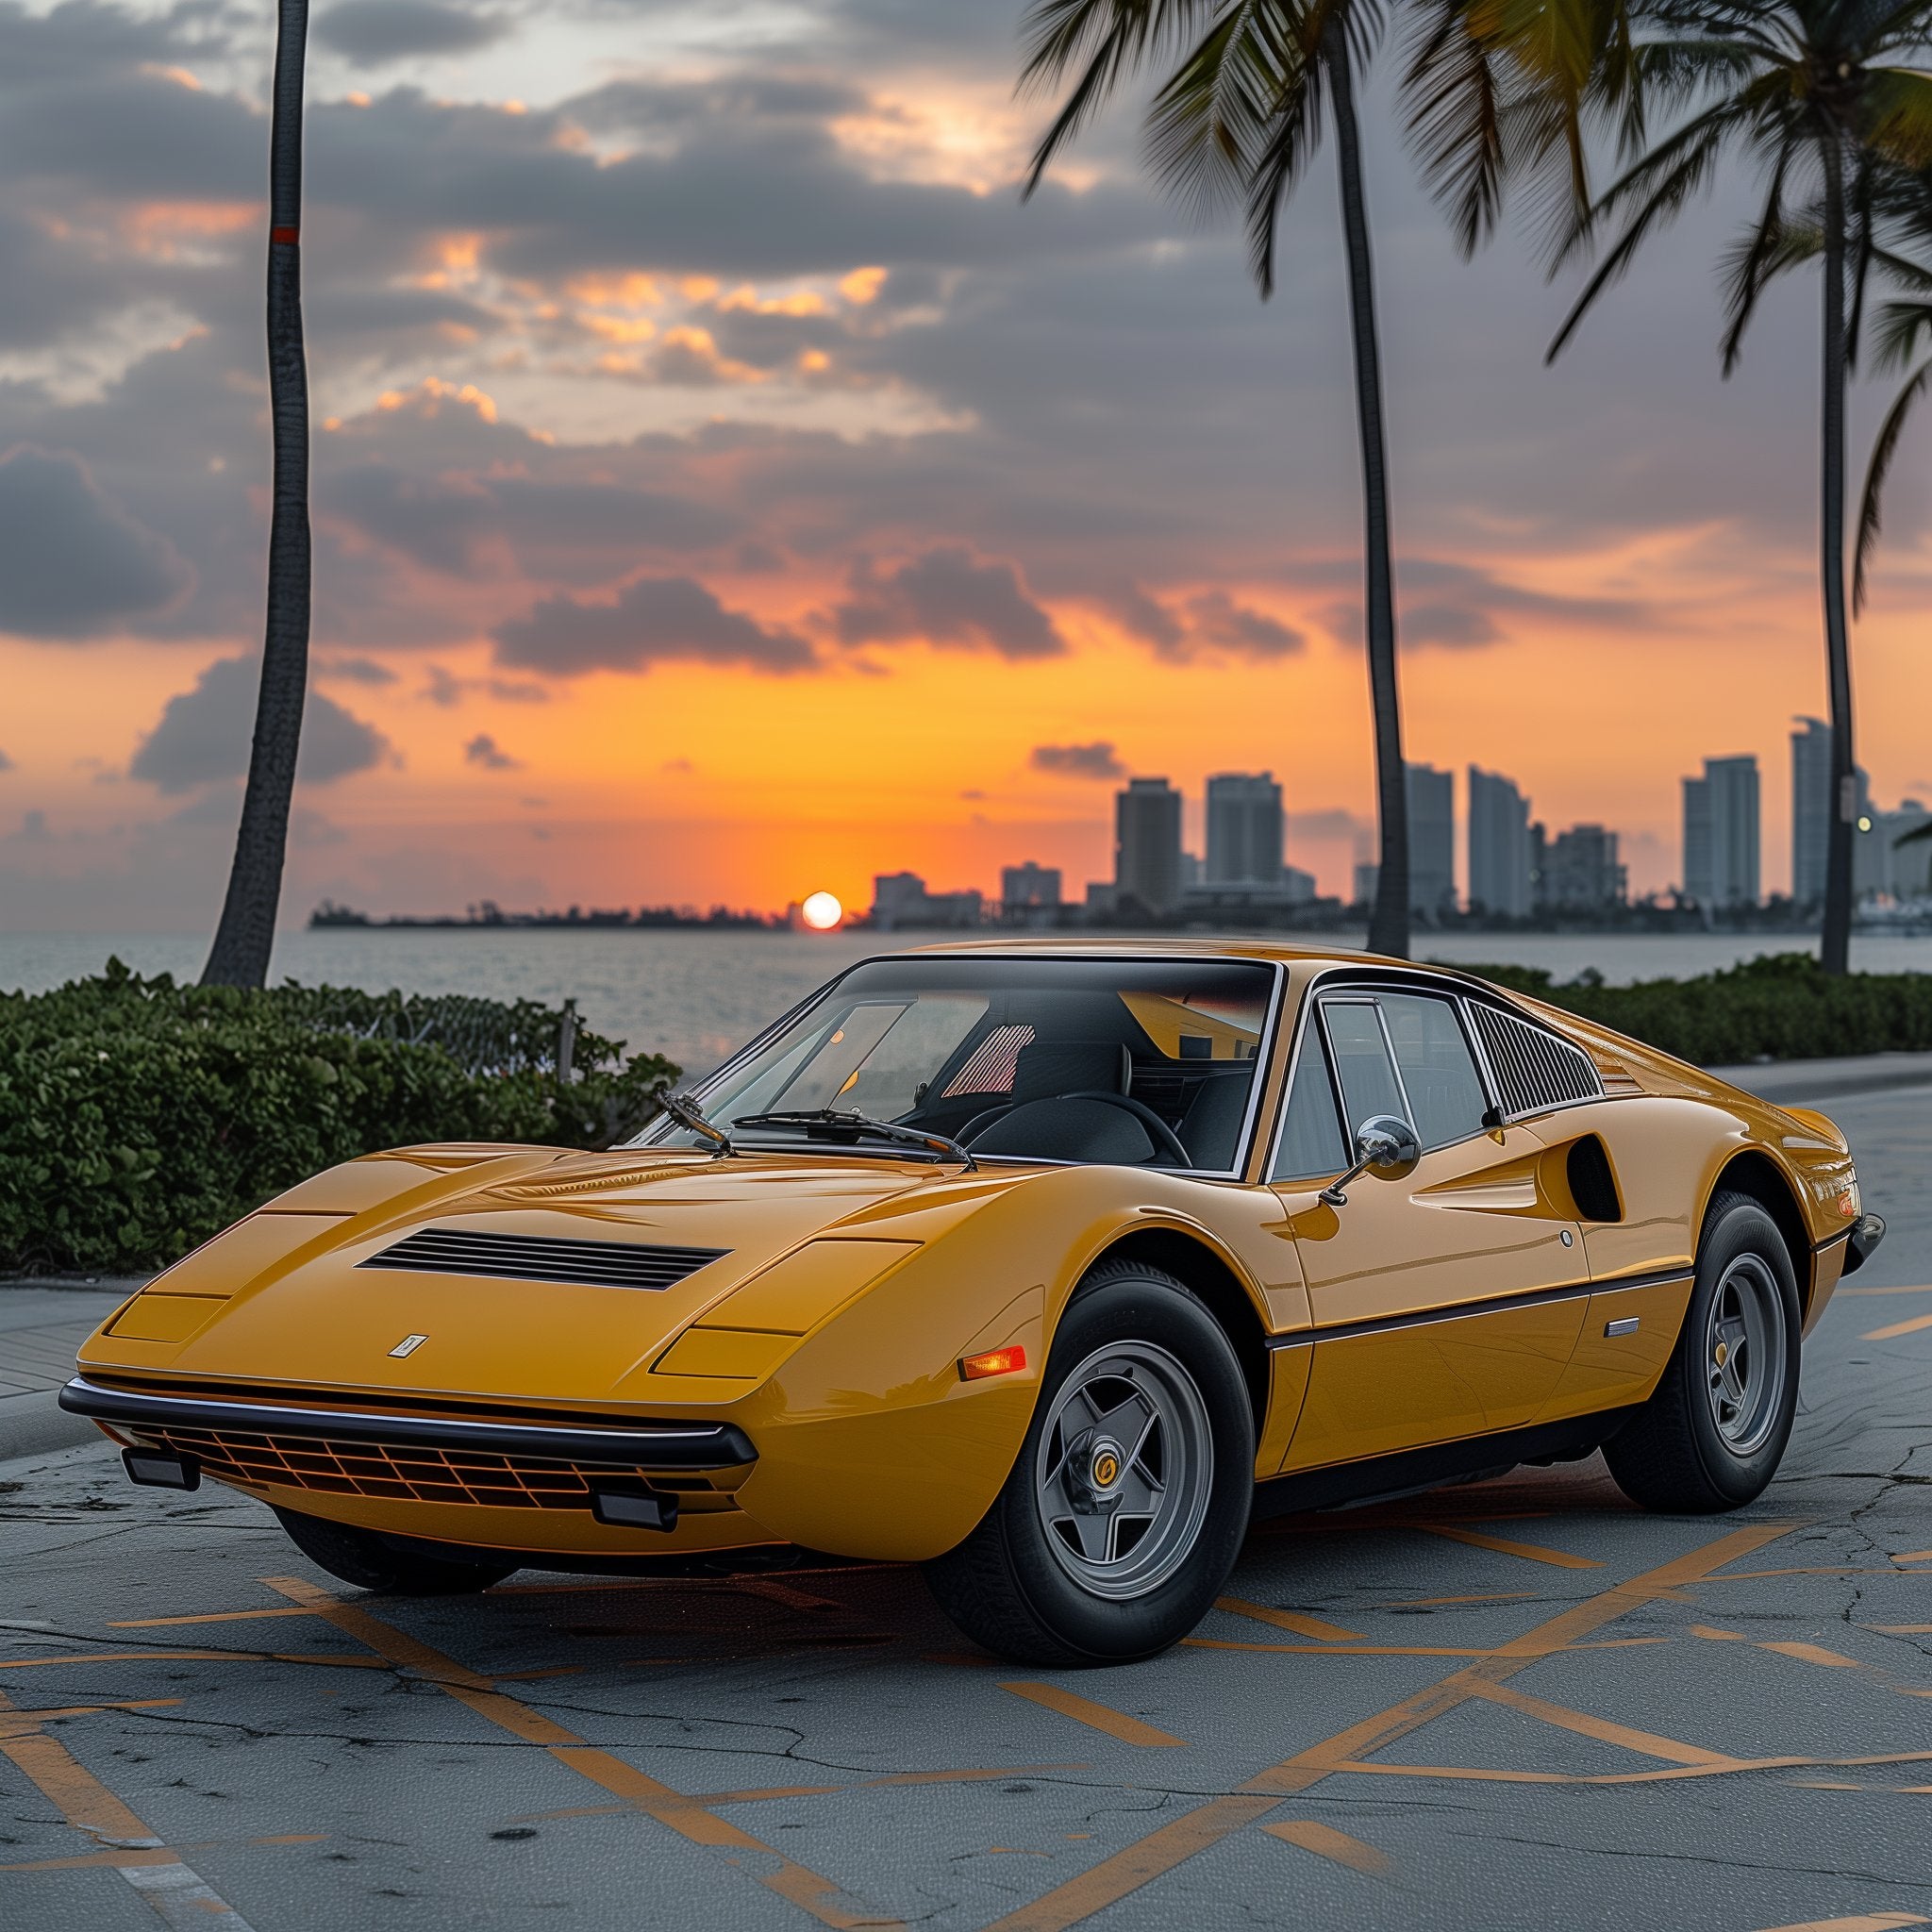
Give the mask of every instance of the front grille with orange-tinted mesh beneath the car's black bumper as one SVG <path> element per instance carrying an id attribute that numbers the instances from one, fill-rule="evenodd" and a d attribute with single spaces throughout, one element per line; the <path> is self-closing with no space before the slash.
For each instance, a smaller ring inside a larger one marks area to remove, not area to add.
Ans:
<path id="1" fill-rule="evenodd" d="M 400 1503 L 589 1509 L 591 1482 L 663 1480 L 638 1464 L 553 1463 L 487 1449 L 357 1443 L 328 1435 L 143 1426 L 141 1439 L 172 1455 L 195 1457 L 220 1482 L 371 1495 Z"/>

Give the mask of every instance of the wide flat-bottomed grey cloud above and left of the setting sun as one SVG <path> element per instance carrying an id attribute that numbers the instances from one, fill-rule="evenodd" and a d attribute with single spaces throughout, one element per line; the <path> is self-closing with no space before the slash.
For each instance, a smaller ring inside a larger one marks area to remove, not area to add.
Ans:
<path id="1" fill-rule="evenodd" d="M 696 578 L 636 578 L 614 603 L 545 597 L 529 616 L 498 624 L 491 636 L 498 665 L 564 678 L 670 663 L 767 672 L 817 667 L 804 638 L 726 611 Z"/>

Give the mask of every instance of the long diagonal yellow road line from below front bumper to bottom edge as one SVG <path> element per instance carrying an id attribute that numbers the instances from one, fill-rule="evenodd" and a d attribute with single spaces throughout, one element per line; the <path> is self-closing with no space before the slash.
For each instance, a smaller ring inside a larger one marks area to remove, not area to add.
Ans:
<path id="1" fill-rule="evenodd" d="M 354 1604 L 344 1604 L 301 1577 L 263 1577 L 263 1582 L 292 1602 L 321 1611 L 338 1631 L 354 1636 L 377 1656 L 388 1658 L 390 1663 L 400 1663 L 404 1669 L 415 1671 L 417 1677 L 435 1683 L 498 1729 L 508 1731 L 526 1745 L 541 1745 L 558 1764 L 566 1764 L 580 1777 L 587 1777 L 593 1785 L 645 1812 L 659 1824 L 670 1826 L 672 1832 L 694 1845 L 755 1851 L 775 1861 L 775 1870 L 752 1872 L 750 1876 L 781 1899 L 788 1899 L 810 1913 L 819 1924 L 833 1926 L 835 1932 L 854 1932 L 858 1926 L 893 1928 L 893 1932 L 898 1932 L 898 1920 L 895 1918 L 848 1911 L 840 1903 L 842 1893 L 829 1878 L 821 1878 L 808 1866 L 798 1864 L 763 1839 L 752 1837 L 750 1832 L 740 1832 L 726 1818 L 719 1818 L 701 1804 L 694 1804 L 680 1791 L 659 1783 L 659 1779 L 639 1772 L 634 1764 L 626 1764 L 609 1750 L 599 1750 L 578 1737 L 576 1731 L 566 1731 L 560 1723 L 553 1723 L 543 1712 L 531 1710 L 514 1696 L 497 1690 L 489 1677 L 468 1669 L 440 1650 L 410 1636 L 406 1631 L 398 1631 L 392 1623 L 371 1617 L 369 1611 Z"/>

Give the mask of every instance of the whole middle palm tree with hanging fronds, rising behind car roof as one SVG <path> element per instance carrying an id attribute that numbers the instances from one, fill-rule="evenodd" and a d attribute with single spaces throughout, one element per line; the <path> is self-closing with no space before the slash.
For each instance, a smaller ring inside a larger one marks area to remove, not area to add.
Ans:
<path id="1" fill-rule="evenodd" d="M 1281 211 L 1314 158 L 1323 114 L 1335 124 L 1343 249 L 1354 346 L 1362 458 L 1368 682 L 1376 726 L 1381 864 L 1368 945 L 1408 954 L 1408 786 L 1395 653 L 1387 431 L 1376 323 L 1374 253 L 1362 185 L 1356 83 L 1387 21 L 1387 0 L 1034 0 L 1026 17 L 1022 89 L 1059 87 L 1059 116 L 1026 180 L 1113 89 L 1157 54 L 1179 68 L 1153 97 L 1148 153 L 1155 176 L 1208 214 L 1240 203 L 1248 265 L 1273 294 Z M 1416 10 L 1405 77 L 1410 139 L 1457 240 L 1472 253 L 1501 211 L 1505 176 L 1563 160 L 1571 199 L 1588 203 L 1580 110 L 1627 95 L 1623 0 L 1428 0 Z"/>

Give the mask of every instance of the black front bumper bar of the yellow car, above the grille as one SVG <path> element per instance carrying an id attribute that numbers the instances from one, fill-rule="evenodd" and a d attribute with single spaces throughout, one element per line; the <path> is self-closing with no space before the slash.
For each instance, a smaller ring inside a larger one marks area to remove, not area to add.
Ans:
<path id="1" fill-rule="evenodd" d="M 60 1406 L 97 1422 L 139 1428 L 180 1424 L 243 1435 L 332 1435 L 340 1441 L 435 1443 L 442 1449 L 483 1449 L 495 1455 L 558 1457 L 570 1463 L 612 1463 L 645 1468 L 734 1468 L 757 1461 L 744 1430 L 728 1422 L 639 1422 L 632 1428 L 520 1428 L 506 1422 L 452 1422 L 437 1416 L 355 1414 L 352 1410 L 288 1408 L 276 1403 L 211 1403 L 184 1395 L 135 1395 L 104 1389 L 75 1376 L 60 1391 Z"/>

